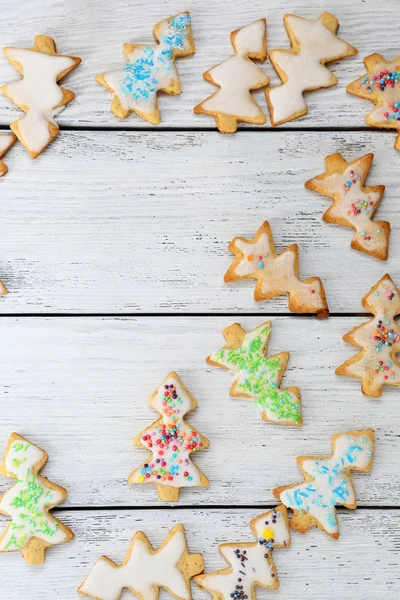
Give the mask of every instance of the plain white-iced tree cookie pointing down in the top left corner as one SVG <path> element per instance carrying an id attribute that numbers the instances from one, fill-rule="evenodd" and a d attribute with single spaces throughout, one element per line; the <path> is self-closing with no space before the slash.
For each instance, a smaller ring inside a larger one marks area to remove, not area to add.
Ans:
<path id="1" fill-rule="evenodd" d="M 35 36 L 33 48 L 7 47 L 3 51 L 22 79 L 3 85 L 1 91 L 26 113 L 10 127 L 30 156 L 36 158 L 58 135 L 54 117 L 75 98 L 58 82 L 81 59 L 57 54 L 54 40 L 47 35 Z"/>

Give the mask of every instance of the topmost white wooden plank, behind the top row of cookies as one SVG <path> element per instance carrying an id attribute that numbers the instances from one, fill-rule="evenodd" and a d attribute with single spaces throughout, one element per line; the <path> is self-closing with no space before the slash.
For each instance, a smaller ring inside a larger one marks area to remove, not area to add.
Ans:
<path id="1" fill-rule="evenodd" d="M 94 76 L 104 70 L 123 65 L 122 44 L 124 42 L 151 42 L 153 25 L 184 9 L 190 9 L 196 43 L 196 54 L 179 61 L 179 73 L 183 93 L 177 97 L 163 96 L 160 100 L 162 125 L 165 127 L 214 128 L 215 121 L 193 114 L 193 107 L 215 91 L 215 87 L 203 80 L 204 71 L 227 58 L 232 53 L 229 34 L 232 30 L 247 25 L 260 17 L 267 17 L 268 47 L 287 48 L 288 38 L 283 27 L 283 15 L 296 13 L 307 18 L 317 18 L 324 8 L 331 10 L 339 19 L 339 34 L 354 44 L 359 54 L 339 61 L 331 68 L 339 78 L 339 84 L 307 95 L 309 114 L 301 120 L 287 124 L 290 128 L 304 127 L 359 127 L 369 110 L 362 102 L 346 94 L 348 83 L 364 71 L 362 59 L 374 51 L 382 51 L 387 58 L 398 55 L 398 36 L 395 27 L 387 26 L 387 15 L 395 14 L 396 0 L 381 0 L 379 11 L 374 0 L 357 5 L 357 10 L 348 0 L 336 0 L 334 6 L 321 6 L 318 0 L 308 0 L 307 5 L 295 0 L 288 5 L 286 0 L 265 0 L 251 3 L 230 3 L 226 11 L 224 0 L 176 2 L 164 0 L 162 4 L 136 0 L 114 0 L 112 9 L 101 2 L 82 3 L 80 0 L 61 0 L 48 3 L 32 0 L 21 11 L 14 0 L 2 2 L 2 46 L 29 47 L 33 36 L 38 33 L 51 35 L 61 52 L 78 55 L 82 65 L 67 79 L 66 85 L 76 92 L 76 100 L 57 117 L 60 124 L 74 126 L 105 126 L 113 128 L 142 128 L 149 124 L 131 116 L 127 121 L 118 121 L 110 111 L 107 92 L 94 81 Z M 79 16 L 79 18 L 77 18 Z M 382 32 L 385 39 L 382 45 Z M 279 82 L 271 63 L 264 69 L 271 77 L 271 85 Z M 15 70 L 4 57 L 0 60 L 2 82 L 16 78 Z M 268 117 L 263 92 L 256 95 L 257 101 Z M 0 124 L 8 125 L 18 117 L 20 111 L 6 98 L 0 99 Z"/>

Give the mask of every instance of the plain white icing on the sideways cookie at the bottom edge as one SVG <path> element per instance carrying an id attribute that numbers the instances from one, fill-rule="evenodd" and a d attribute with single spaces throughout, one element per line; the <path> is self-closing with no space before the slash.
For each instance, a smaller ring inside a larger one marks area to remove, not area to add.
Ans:
<path id="1" fill-rule="evenodd" d="M 97 600 L 117 600 L 123 588 L 131 588 L 146 600 L 157 600 L 159 586 L 167 588 L 177 598 L 189 600 L 190 590 L 178 568 L 185 549 L 185 535 L 180 530 L 154 554 L 148 544 L 134 539 L 126 564 L 117 567 L 101 557 L 79 591 Z"/>

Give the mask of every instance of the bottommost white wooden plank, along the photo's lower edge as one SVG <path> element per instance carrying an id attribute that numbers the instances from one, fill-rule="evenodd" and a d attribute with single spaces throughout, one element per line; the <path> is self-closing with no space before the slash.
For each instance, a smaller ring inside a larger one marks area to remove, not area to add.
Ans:
<path id="1" fill-rule="evenodd" d="M 157 547 L 170 528 L 185 525 L 189 550 L 202 552 L 206 571 L 226 567 L 218 544 L 252 541 L 248 522 L 260 514 L 255 510 L 174 510 L 174 511 L 60 511 L 59 518 L 76 533 L 73 542 L 50 549 L 43 567 L 29 567 L 21 556 L 2 555 L 1 588 L 7 600 L 20 600 L 21 581 L 30 600 L 78 598 L 76 590 L 95 561 L 102 555 L 121 563 L 135 531 L 142 530 Z M 275 550 L 280 588 L 275 593 L 259 588 L 257 598 L 285 600 L 363 600 L 384 590 L 385 600 L 397 600 L 399 511 L 356 510 L 339 515 L 341 536 L 337 542 L 313 529 L 307 535 L 293 532 L 292 547 Z M 194 600 L 210 595 L 192 584 Z M 167 598 L 162 593 L 161 598 Z M 132 598 L 125 592 L 124 600 Z"/>

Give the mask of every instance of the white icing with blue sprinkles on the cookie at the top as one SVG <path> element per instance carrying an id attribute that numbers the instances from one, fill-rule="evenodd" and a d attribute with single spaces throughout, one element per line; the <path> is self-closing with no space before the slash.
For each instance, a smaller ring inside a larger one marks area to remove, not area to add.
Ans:
<path id="1" fill-rule="evenodd" d="M 151 115 L 157 107 L 157 92 L 179 83 L 175 67 L 178 50 L 190 47 L 190 16 L 181 13 L 158 26 L 158 45 L 139 45 L 127 56 L 123 69 L 104 73 L 104 79 L 124 110 Z"/>

